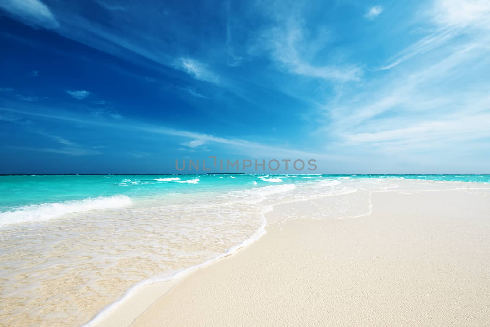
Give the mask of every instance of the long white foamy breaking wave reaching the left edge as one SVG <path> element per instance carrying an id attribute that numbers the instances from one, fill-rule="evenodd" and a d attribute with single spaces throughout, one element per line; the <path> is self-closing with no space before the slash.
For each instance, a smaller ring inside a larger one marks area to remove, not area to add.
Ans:
<path id="1" fill-rule="evenodd" d="M 133 204 L 125 195 L 98 197 L 84 200 L 73 200 L 55 203 L 31 204 L 14 211 L 0 213 L 0 226 L 25 222 L 40 222 L 64 215 L 89 210 L 114 209 Z"/>

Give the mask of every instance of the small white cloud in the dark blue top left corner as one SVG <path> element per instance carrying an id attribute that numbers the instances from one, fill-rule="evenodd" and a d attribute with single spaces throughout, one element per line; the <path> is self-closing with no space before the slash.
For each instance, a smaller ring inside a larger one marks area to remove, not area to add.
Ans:
<path id="1" fill-rule="evenodd" d="M 0 7 L 27 25 L 46 28 L 59 26 L 49 7 L 39 0 L 3 0 Z"/>

